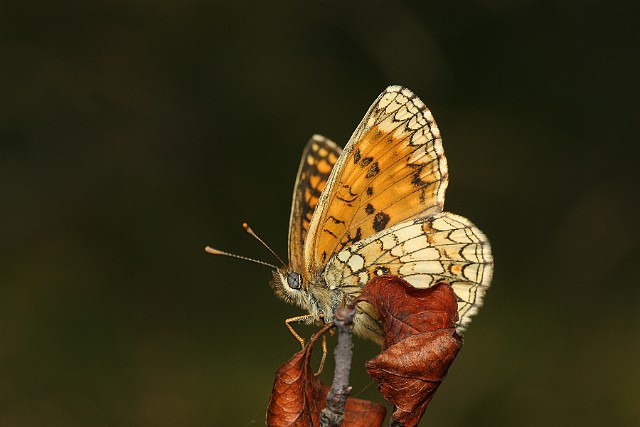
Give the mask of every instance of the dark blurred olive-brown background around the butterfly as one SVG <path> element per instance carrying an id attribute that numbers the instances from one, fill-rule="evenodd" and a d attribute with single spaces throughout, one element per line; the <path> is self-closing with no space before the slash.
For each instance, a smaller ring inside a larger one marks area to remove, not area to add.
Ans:
<path id="1" fill-rule="evenodd" d="M 496 263 L 421 425 L 640 423 L 637 3 L 0 5 L 0 425 L 263 425 L 302 311 L 203 248 L 285 256 L 307 139 L 389 84 Z"/>

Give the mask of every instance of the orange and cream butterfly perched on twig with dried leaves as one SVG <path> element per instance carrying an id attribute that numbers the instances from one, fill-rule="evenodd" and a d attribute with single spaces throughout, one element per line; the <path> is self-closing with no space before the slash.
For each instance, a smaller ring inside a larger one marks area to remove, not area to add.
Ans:
<path id="1" fill-rule="evenodd" d="M 314 135 L 294 186 L 289 265 L 271 281 L 278 296 L 308 311 L 287 326 L 331 322 L 373 277 L 391 274 L 417 288 L 451 284 L 464 330 L 491 283 L 493 257 L 471 221 L 443 211 L 448 178 L 433 115 L 401 86 L 378 96 L 344 149 Z M 373 306 L 358 305 L 354 331 L 383 341 Z"/>

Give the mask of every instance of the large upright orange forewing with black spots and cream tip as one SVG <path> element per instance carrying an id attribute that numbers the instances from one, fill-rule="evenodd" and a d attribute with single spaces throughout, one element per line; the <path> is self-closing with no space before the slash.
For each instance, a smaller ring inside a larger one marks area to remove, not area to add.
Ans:
<path id="1" fill-rule="evenodd" d="M 320 196 L 304 247 L 307 280 L 345 247 L 440 212 L 447 177 L 431 112 L 410 90 L 390 86 L 356 128 Z"/>

